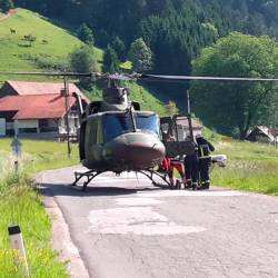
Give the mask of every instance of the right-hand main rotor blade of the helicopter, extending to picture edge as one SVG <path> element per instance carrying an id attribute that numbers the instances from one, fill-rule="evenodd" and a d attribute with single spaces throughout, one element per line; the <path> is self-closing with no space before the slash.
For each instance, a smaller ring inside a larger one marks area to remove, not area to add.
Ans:
<path id="1" fill-rule="evenodd" d="M 169 80 L 169 81 L 185 81 L 185 80 L 216 80 L 216 81 L 278 81 L 278 78 L 241 78 L 241 77 L 190 77 L 190 76 L 159 76 L 159 75 L 141 75 L 138 79 L 146 80 Z"/>

